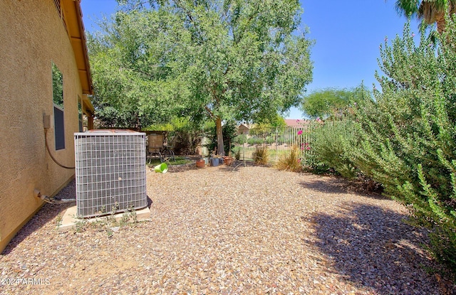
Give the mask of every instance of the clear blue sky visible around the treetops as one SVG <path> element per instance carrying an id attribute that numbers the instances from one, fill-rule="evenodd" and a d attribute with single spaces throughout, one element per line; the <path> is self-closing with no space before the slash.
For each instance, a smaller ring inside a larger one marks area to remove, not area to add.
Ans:
<path id="1" fill-rule="evenodd" d="M 326 87 L 351 88 L 363 80 L 372 88 L 380 57 L 378 46 L 385 37 L 402 35 L 405 17 L 398 16 L 394 0 L 301 0 L 304 13 L 301 31 L 309 28 L 309 38 L 316 41 L 311 48 L 314 81 L 307 91 Z M 86 31 L 97 31 L 97 20 L 109 17 L 117 6 L 115 0 L 83 0 L 83 21 Z M 411 24 L 418 31 L 418 24 Z M 418 38 L 418 34 L 417 37 Z M 300 119 L 301 111 L 291 109 L 289 119 Z"/>

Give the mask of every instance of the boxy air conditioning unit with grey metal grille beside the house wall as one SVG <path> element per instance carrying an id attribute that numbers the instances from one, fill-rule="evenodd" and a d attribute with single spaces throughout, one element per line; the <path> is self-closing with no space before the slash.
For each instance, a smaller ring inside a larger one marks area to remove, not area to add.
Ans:
<path id="1" fill-rule="evenodd" d="M 147 206 L 144 133 L 97 130 L 74 136 L 79 218 Z"/>

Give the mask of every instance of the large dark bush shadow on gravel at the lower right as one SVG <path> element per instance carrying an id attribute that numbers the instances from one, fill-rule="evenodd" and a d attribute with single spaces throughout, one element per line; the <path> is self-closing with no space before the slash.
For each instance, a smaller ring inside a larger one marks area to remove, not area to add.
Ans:
<path id="1" fill-rule="evenodd" d="M 352 203 L 340 213 L 316 214 L 311 222 L 315 246 L 347 281 L 373 294 L 454 294 L 456 289 L 439 290 L 436 277 L 426 272 L 436 267 L 423 249 L 427 234 L 405 224 L 405 215 Z"/>

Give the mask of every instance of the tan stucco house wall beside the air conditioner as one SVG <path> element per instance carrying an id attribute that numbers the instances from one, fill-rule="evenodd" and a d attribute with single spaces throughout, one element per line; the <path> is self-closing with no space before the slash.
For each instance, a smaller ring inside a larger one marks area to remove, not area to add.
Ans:
<path id="1" fill-rule="evenodd" d="M 46 152 L 43 114 L 51 115 L 51 62 L 63 73 L 66 149 L 56 151 L 53 127 L 48 144 L 63 165 L 74 166 L 81 82 L 71 42 L 53 0 L 0 1 L 0 252 L 40 208 L 38 189 L 55 195 L 74 176 Z"/>

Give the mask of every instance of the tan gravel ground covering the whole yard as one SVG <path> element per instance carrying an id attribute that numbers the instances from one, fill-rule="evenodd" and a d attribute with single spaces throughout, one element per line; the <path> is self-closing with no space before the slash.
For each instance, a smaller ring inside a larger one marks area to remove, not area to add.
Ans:
<path id="1" fill-rule="evenodd" d="M 74 183 L 61 192 L 74 198 Z M 57 232 L 46 204 L 0 256 L 0 294 L 451 294 L 405 208 L 261 166 L 147 172 L 150 221 Z"/>

